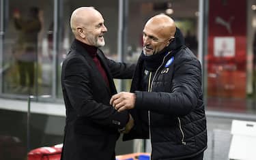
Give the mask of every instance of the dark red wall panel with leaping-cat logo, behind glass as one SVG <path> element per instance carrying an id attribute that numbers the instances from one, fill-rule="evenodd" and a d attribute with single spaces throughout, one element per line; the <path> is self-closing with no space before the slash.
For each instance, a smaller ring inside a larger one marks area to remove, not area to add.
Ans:
<path id="1" fill-rule="evenodd" d="M 219 16 L 225 21 L 233 17 L 229 33 L 216 23 Z M 246 1 L 210 0 L 208 19 L 208 96 L 246 96 Z M 214 37 L 234 37 L 235 57 L 214 57 Z M 209 76 L 212 75 L 212 76 Z M 215 75 L 215 76 L 213 76 Z"/>

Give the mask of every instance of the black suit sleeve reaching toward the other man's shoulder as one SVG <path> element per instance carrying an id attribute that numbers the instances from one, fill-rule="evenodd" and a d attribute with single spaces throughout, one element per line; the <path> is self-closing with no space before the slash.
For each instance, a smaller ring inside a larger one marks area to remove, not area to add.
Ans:
<path id="1" fill-rule="evenodd" d="M 106 59 L 108 61 L 109 69 L 113 78 L 118 79 L 131 79 L 136 65 L 130 63 L 118 63 L 111 59 Z"/>

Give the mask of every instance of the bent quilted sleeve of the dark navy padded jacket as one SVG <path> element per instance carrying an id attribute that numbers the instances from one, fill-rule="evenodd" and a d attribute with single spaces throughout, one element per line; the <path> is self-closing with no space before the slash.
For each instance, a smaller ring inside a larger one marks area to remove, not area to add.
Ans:
<path id="1" fill-rule="evenodd" d="M 135 108 L 183 116 L 197 106 L 202 94 L 200 62 L 192 58 L 175 64 L 170 93 L 135 91 Z"/>

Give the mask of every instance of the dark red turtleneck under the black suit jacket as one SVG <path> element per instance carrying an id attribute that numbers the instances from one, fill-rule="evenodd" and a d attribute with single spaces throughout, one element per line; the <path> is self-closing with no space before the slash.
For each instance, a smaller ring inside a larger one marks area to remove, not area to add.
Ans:
<path id="1" fill-rule="evenodd" d="M 96 46 L 89 46 L 87 44 L 84 44 L 82 42 L 80 42 L 81 44 L 83 44 L 83 46 L 85 47 L 85 50 L 87 50 L 87 52 L 89 53 L 89 55 L 91 56 L 91 58 L 94 60 L 94 63 L 96 64 L 96 66 L 98 67 L 98 70 L 100 71 L 100 74 L 102 75 L 102 77 L 104 78 L 107 86 L 109 86 L 109 79 L 106 76 L 106 71 L 105 69 L 102 67 L 100 60 L 97 57 L 97 50 L 98 48 Z"/>

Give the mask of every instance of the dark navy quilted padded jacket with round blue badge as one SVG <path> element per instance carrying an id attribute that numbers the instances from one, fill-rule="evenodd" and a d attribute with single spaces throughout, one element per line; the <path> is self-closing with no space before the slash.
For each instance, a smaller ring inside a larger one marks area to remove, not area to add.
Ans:
<path id="1" fill-rule="evenodd" d="M 179 29 L 165 51 L 152 71 L 145 68 L 143 53 L 139 58 L 131 86 L 135 125 L 123 139 L 150 138 L 152 160 L 185 159 L 207 148 L 201 63 L 184 46 Z"/>

